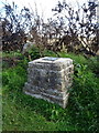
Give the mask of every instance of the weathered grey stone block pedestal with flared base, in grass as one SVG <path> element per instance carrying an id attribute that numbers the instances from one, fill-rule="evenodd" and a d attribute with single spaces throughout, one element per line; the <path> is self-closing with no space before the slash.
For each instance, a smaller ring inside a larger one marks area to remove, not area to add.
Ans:
<path id="1" fill-rule="evenodd" d="M 69 58 L 45 57 L 29 62 L 28 82 L 24 93 L 37 99 L 67 105 L 69 88 L 73 83 L 74 65 Z"/>

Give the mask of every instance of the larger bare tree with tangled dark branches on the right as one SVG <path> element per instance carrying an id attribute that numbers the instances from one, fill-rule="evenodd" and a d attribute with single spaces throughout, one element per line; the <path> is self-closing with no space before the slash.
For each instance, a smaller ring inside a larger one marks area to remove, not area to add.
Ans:
<path id="1" fill-rule="evenodd" d="M 95 2 L 88 2 L 81 7 L 78 6 L 78 9 L 75 11 L 65 1 L 58 1 L 58 4 L 53 9 L 64 34 L 58 43 L 64 43 L 68 51 L 84 51 L 95 54 L 99 49 L 96 7 Z M 62 32 L 59 33 L 62 34 Z"/>

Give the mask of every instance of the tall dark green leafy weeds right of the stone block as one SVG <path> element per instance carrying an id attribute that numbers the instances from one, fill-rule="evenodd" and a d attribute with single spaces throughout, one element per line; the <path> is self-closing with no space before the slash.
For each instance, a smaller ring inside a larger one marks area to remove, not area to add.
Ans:
<path id="1" fill-rule="evenodd" d="M 72 96 L 69 102 L 72 103 L 70 113 L 73 121 L 82 131 L 97 131 L 97 114 L 98 105 L 98 88 L 99 83 L 95 74 L 88 70 L 87 65 L 76 64 Z M 85 127 L 84 127 L 85 126 Z"/>

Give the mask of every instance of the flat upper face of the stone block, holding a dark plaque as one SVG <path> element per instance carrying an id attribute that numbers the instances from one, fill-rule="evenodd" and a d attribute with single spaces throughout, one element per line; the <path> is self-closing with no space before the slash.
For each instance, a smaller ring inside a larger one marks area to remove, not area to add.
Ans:
<path id="1" fill-rule="evenodd" d="M 41 59 L 36 59 L 34 61 L 31 61 L 30 63 L 64 63 L 64 62 L 70 62 L 73 63 L 73 60 L 69 58 L 53 58 L 53 57 L 45 57 Z"/>

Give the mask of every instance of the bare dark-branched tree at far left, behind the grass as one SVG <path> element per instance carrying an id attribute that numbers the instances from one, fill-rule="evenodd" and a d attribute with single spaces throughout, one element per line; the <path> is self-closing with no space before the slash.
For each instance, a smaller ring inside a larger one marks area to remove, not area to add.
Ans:
<path id="1" fill-rule="evenodd" d="M 2 21 L 2 50 L 22 50 L 26 41 L 26 33 L 33 24 L 33 17 L 29 8 L 23 8 L 20 12 L 14 2 L 12 6 L 4 4 L 6 16 Z"/>

